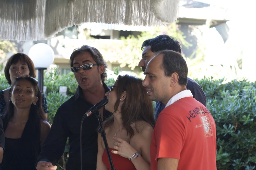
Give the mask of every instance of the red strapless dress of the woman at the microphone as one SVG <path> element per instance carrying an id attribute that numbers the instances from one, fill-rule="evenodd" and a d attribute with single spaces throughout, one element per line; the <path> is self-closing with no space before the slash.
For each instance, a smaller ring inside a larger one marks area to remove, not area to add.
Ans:
<path id="1" fill-rule="evenodd" d="M 120 156 L 119 154 L 114 154 L 111 152 L 111 150 L 116 150 L 109 148 L 110 155 L 114 164 L 114 168 L 116 170 L 136 170 L 135 166 L 133 165 L 132 161 L 130 161 L 127 158 L 124 158 Z M 111 170 L 108 158 L 107 158 L 107 152 L 106 149 L 104 150 L 104 153 L 102 155 L 102 161 L 107 166 L 109 170 Z"/>

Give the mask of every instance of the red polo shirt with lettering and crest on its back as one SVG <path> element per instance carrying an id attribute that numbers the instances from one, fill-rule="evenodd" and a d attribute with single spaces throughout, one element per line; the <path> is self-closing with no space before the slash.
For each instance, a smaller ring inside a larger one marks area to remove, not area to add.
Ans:
<path id="1" fill-rule="evenodd" d="M 151 170 L 158 158 L 179 159 L 178 170 L 216 170 L 216 125 L 193 97 L 181 98 L 158 116 L 150 146 Z"/>

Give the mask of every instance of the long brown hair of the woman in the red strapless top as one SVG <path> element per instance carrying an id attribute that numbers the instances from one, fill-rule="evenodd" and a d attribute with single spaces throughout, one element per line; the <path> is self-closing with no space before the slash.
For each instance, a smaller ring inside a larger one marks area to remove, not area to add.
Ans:
<path id="1" fill-rule="evenodd" d="M 121 98 L 122 92 L 126 91 L 126 98 L 120 113 L 127 135 L 130 135 L 130 137 L 134 135 L 134 130 L 131 127 L 131 124 L 134 122 L 145 121 L 154 128 L 153 106 L 145 88 L 142 86 L 142 80 L 129 75 L 119 75 L 115 86 L 117 86 L 115 90 L 118 99 Z M 120 100 L 117 100 L 114 106 L 115 111 L 117 111 L 119 104 Z M 113 122 L 114 116 L 112 115 L 103 123 L 104 128 L 110 126 Z M 137 123 L 135 125 L 136 131 L 138 132 Z"/>

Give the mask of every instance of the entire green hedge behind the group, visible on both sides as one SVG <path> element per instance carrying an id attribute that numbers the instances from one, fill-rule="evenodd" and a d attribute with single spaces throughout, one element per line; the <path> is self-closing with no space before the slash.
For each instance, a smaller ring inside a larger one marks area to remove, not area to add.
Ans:
<path id="1" fill-rule="evenodd" d="M 0 90 L 8 87 L 0 76 Z M 217 169 L 256 169 L 256 84 L 246 80 L 224 83 L 224 79 L 205 78 L 197 80 L 207 97 L 207 108 L 216 122 Z M 106 80 L 112 85 L 113 79 Z M 59 76 L 56 71 L 46 74 L 47 102 L 52 123 L 58 107 L 76 91 L 77 82 L 72 73 Z M 67 96 L 58 93 L 59 86 L 67 86 Z M 65 168 L 68 144 L 58 166 Z"/>

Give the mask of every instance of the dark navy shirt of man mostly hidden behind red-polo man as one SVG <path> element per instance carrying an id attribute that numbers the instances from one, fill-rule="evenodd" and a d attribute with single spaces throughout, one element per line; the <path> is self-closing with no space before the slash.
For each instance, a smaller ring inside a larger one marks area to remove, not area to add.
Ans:
<path id="1" fill-rule="evenodd" d="M 206 107 L 206 96 L 200 85 L 195 80 L 187 78 L 187 90 L 190 90 L 193 94 L 193 97 Z M 163 103 L 156 102 L 154 115 L 155 120 L 157 120 L 158 115 L 162 110 L 164 110 L 164 108 L 165 105 Z"/>

